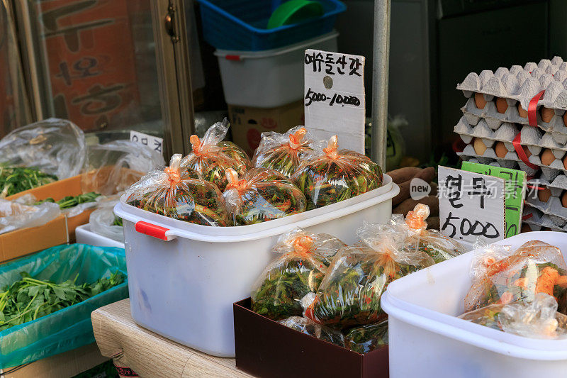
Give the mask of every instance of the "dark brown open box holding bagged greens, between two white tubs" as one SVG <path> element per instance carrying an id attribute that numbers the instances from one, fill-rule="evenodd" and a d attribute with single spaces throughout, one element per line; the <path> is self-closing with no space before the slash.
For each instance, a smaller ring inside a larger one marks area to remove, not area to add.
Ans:
<path id="1" fill-rule="evenodd" d="M 388 377 L 388 347 L 360 355 L 233 305 L 236 367 L 257 377 Z"/>

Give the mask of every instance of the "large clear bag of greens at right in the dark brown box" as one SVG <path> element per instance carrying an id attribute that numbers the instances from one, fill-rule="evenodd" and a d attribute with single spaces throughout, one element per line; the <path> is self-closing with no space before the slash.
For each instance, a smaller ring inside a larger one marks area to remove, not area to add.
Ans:
<path id="1" fill-rule="evenodd" d="M 386 316 L 380 299 L 388 284 L 434 264 L 408 244 L 405 231 L 366 223 L 357 230 L 361 242 L 337 252 L 305 316 L 332 328 L 376 323 Z"/>

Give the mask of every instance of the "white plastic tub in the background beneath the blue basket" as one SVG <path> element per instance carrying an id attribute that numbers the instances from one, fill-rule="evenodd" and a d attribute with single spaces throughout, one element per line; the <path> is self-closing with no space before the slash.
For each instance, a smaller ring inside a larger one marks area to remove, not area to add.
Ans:
<path id="1" fill-rule="evenodd" d="M 337 51 L 332 32 L 264 51 L 216 50 L 227 104 L 275 108 L 303 99 L 305 49 Z"/>

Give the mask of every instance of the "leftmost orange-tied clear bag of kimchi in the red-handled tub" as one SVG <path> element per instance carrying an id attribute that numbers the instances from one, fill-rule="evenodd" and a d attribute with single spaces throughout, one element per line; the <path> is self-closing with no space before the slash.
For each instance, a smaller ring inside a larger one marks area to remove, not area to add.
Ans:
<path id="1" fill-rule="evenodd" d="M 223 195 L 193 169 L 179 167 L 181 155 L 169 167 L 155 169 L 126 190 L 126 203 L 151 213 L 203 226 L 230 226 Z"/>

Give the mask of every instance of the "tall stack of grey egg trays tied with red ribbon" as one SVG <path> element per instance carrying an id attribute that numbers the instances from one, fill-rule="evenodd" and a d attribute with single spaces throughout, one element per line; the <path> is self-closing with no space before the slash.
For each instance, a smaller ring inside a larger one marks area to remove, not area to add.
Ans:
<path id="1" fill-rule="evenodd" d="M 457 89 L 467 98 L 454 128 L 467 144 L 458 155 L 471 162 L 524 170 L 531 178 L 528 187 L 538 189 L 529 191 L 524 223 L 532 230 L 567 231 L 567 195 L 561 201 L 567 189 L 567 62 L 554 57 L 523 68 L 472 72 Z M 538 127 L 529 126 L 526 109 L 543 90 L 537 104 Z M 514 148 L 512 141 L 520 132 L 522 150 L 535 169 Z"/>

